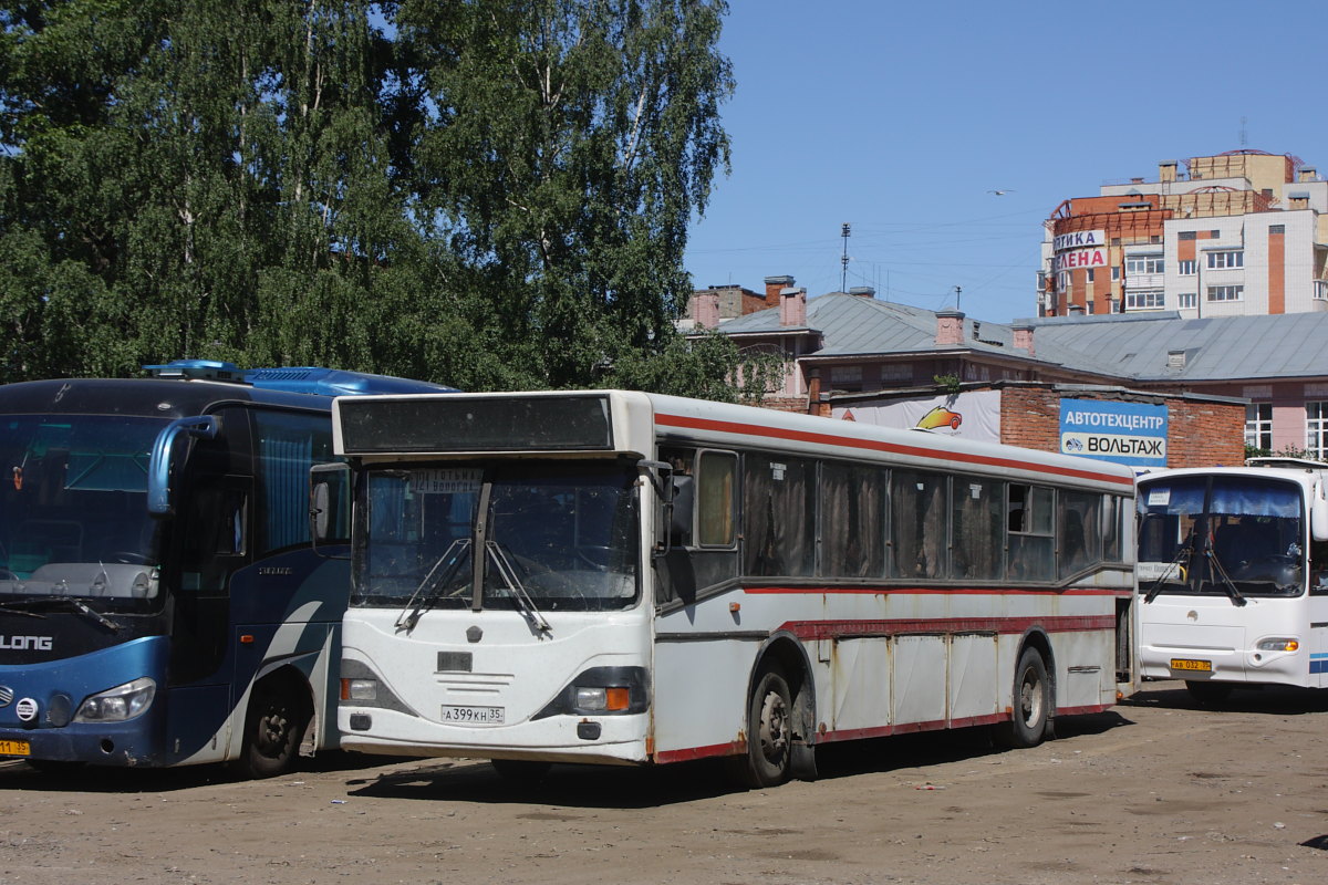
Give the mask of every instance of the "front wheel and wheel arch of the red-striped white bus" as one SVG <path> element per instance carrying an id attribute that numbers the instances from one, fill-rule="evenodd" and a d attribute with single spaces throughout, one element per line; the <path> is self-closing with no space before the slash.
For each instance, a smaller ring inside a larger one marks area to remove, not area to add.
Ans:
<path id="1" fill-rule="evenodd" d="M 756 655 L 745 698 L 746 751 L 729 758 L 730 776 L 752 788 L 814 780 L 815 690 L 802 644 L 770 637 Z"/>

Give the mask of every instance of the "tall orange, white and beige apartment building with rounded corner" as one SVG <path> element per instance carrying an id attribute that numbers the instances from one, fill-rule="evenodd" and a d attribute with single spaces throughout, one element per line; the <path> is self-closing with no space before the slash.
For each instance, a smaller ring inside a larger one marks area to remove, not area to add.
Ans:
<path id="1" fill-rule="evenodd" d="M 1038 316 L 1183 318 L 1328 310 L 1328 182 L 1239 150 L 1158 165 L 1065 200 L 1046 222 Z"/>

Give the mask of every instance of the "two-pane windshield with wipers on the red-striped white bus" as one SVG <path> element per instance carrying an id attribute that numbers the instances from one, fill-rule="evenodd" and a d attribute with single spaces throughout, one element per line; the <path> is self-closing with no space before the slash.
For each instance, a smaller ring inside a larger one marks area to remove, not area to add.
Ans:
<path id="1" fill-rule="evenodd" d="M 636 471 L 620 463 L 369 470 L 360 486 L 351 604 L 627 608 L 637 598 L 635 488 Z M 475 559 L 483 563 L 478 604 Z"/>

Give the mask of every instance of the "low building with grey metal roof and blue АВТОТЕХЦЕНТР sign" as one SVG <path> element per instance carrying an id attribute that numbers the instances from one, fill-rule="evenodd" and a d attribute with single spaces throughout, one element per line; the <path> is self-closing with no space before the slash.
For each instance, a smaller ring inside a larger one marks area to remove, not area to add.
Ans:
<path id="1" fill-rule="evenodd" d="M 1112 443 L 1165 452 L 1135 466 L 1239 464 L 1247 442 L 1328 459 L 1328 313 L 1005 325 L 880 301 L 870 289 L 807 300 L 790 277 L 770 280 L 778 306 L 720 330 L 742 349 L 785 356 L 772 407 L 1068 451 L 1120 435 L 1094 437 L 1068 415 L 1153 422 L 1150 434 Z M 946 426 L 954 415 L 959 423 Z"/>

